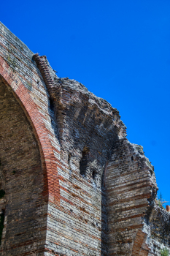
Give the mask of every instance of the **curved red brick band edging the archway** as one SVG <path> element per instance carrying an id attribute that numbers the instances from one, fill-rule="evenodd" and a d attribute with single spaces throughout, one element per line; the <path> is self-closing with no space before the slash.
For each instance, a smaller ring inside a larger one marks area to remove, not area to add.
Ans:
<path id="1" fill-rule="evenodd" d="M 19 99 L 20 105 L 23 107 L 27 118 L 31 121 L 34 129 L 34 135 L 38 140 L 39 151 L 42 157 L 42 166 L 44 169 L 44 192 L 43 195 L 48 195 L 48 200 L 53 203 L 60 202 L 60 188 L 58 180 L 57 165 L 55 163 L 55 156 L 50 138 L 47 133 L 42 116 L 34 100 L 31 98 L 28 89 L 23 85 L 18 78 L 18 75 L 13 71 L 7 61 L 0 56 L 0 75 L 7 86 L 12 88 L 14 95 Z M 16 82 L 17 81 L 17 82 Z M 43 160 L 44 159 L 44 160 Z"/>

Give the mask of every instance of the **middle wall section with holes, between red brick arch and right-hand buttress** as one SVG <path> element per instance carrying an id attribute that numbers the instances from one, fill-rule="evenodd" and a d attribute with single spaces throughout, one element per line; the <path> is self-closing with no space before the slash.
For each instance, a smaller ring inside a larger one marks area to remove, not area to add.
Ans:
<path id="1" fill-rule="evenodd" d="M 63 165 L 60 207 L 50 203 L 47 248 L 66 255 L 107 255 L 103 176 L 115 140 L 125 137 L 125 125 L 116 109 L 81 83 L 50 79 L 44 56 L 36 54 L 34 60 L 47 83 Z"/>

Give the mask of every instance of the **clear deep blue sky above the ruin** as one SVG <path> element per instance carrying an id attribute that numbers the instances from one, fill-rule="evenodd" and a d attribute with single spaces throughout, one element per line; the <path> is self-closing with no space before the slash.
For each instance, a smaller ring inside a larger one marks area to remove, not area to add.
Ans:
<path id="1" fill-rule="evenodd" d="M 170 201 L 170 1 L 2 1 L 1 22 L 59 77 L 120 111 Z M 170 202 L 169 202 L 170 203 Z"/>

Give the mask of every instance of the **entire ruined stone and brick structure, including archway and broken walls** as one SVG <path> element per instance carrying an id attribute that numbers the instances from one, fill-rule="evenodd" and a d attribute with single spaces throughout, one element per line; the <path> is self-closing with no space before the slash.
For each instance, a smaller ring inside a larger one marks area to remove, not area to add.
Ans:
<path id="1" fill-rule="evenodd" d="M 170 252 L 154 168 L 125 129 L 0 23 L 0 255 Z"/>

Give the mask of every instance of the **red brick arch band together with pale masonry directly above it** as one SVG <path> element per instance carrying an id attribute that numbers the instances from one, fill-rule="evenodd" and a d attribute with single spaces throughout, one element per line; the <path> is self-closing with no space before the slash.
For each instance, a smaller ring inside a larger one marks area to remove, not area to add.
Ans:
<path id="1" fill-rule="evenodd" d="M 60 145 L 55 138 L 49 94 L 32 59 L 33 55 L 20 39 L 0 23 L 0 74 L 15 91 L 31 121 L 42 158 L 45 158 L 45 193 L 50 196 L 50 200 L 57 202 L 59 187 L 55 152 L 60 151 Z"/>

